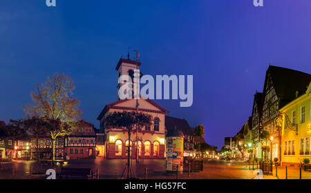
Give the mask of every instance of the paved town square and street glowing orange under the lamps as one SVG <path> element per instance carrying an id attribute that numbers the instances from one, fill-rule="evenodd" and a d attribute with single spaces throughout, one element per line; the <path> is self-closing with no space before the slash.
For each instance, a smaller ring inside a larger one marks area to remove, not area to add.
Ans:
<path id="1" fill-rule="evenodd" d="M 91 167 L 100 172 L 100 179 L 118 179 L 124 170 L 124 160 L 73 160 L 69 161 L 64 167 Z M 30 176 L 30 167 L 32 171 L 37 171 L 38 167 L 35 161 L 12 161 L 10 163 L 1 163 L 0 179 L 45 179 L 46 170 L 55 168 L 57 173 L 60 171 L 60 165 L 40 165 L 41 176 Z M 145 167 L 148 169 L 148 179 L 176 179 L 175 174 L 166 174 L 165 160 L 141 160 L 139 163 L 133 161 L 132 168 L 138 178 L 144 178 Z M 254 179 L 256 176 L 252 166 L 245 165 L 245 162 L 227 162 L 227 161 L 207 161 L 204 164 L 203 172 L 193 172 L 188 176 L 187 172 L 180 175 L 180 179 Z M 256 170 L 256 165 L 254 165 Z M 279 179 L 285 179 L 285 167 L 279 167 Z M 302 172 L 303 179 L 310 179 L 311 172 Z M 264 179 L 277 179 L 275 170 L 274 176 L 264 176 Z M 299 169 L 289 167 L 288 179 L 299 179 Z"/>

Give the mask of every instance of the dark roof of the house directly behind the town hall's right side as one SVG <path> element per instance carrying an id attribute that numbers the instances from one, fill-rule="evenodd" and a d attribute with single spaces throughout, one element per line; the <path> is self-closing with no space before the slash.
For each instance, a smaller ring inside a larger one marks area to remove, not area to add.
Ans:
<path id="1" fill-rule="evenodd" d="M 165 116 L 165 128 L 167 130 L 180 130 L 185 135 L 194 135 L 194 128 L 191 128 L 186 119 L 179 119 L 173 116 Z"/>

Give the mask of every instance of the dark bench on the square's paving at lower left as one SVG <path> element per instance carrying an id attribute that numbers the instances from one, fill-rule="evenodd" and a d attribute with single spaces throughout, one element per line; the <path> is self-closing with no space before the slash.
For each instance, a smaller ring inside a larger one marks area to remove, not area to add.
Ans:
<path id="1" fill-rule="evenodd" d="M 68 177 L 68 176 L 80 177 L 80 178 L 84 178 L 84 179 L 92 179 L 93 170 L 91 170 L 91 168 L 62 167 L 59 176 L 61 179 L 63 177 Z"/>

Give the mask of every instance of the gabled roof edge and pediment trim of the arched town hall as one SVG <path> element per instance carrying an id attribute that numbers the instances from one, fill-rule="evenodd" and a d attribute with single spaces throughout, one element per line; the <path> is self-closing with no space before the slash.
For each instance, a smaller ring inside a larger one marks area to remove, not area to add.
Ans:
<path id="1" fill-rule="evenodd" d="M 140 98 L 142 99 L 142 98 Z M 124 100 L 120 100 L 120 101 L 115 101 L 113 103 L 110 103 L 108 105 L 106 105 L 104 107 L 104 109 L 102 110 L 102 112 L 100 112 L 100 115 L 97 117 L 97 120 L 102 119 L 102 117 L 104 116 L 104 114 L 109 110 L 109 109 L 119 109 L 119 110 L 137 110 L 136 108 L 131 108 L 131 107 L 122 107 L 122 106 L 116 106 L 120 103 L 124 103 L 126 101 L 130 101 L 130 100 L 135 100 L 135 99 L 124 99 Z M 157 112 L 157 113 L 162 113 L 162 114 L 167 114 L 169 111 L 162 108 L 160 105 L 158 105 L 157 103 L 151 101 L 150 99 L 142 99 L 144 101 L 147 101 L 148 103 L 150 103 L 151 105 L 155 106 L 156 108 L 158 108 L 159 110 L 148 110 L 148 109 L 144 109 L 144 108 L 139 108 L 138 107 L 138 111 L 144 111 L 144 112 Z"/>

